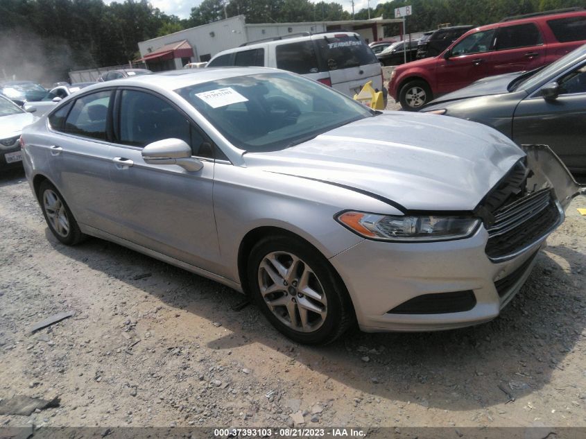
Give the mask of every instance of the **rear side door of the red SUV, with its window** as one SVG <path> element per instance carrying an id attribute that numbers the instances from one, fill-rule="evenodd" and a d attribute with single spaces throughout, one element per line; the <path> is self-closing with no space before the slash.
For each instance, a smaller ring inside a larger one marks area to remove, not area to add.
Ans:
<path id="1" fill-rule="evenodd" d="M 533 70 L 546 63 L 543 35 L 535 23 L 501 26 L 494 43 L 488 75 Z"/>

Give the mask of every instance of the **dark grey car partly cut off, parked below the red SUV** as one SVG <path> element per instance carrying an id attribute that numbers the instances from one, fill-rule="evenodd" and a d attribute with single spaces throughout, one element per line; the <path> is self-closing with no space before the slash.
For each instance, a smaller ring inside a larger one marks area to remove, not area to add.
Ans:
<path id="1" fill-rule="evenodd" d="M 544 69 L 478 80 L 422 112 L 485 123 L 516 144 L 547 144 L 570 171 L 586 173 L 586 44 Z"/>

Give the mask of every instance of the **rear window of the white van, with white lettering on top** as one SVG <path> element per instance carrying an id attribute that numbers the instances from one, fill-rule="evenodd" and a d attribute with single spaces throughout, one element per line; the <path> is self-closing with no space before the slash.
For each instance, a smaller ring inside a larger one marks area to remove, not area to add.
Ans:
<path id="1" fill-rule="evenodd" d="M 314 40 L 318 53 L 325 61 L 328 70 L 349 69 L 365 64 L 379 64 L 376 55 L 359 37 L 322 37 Z"/>

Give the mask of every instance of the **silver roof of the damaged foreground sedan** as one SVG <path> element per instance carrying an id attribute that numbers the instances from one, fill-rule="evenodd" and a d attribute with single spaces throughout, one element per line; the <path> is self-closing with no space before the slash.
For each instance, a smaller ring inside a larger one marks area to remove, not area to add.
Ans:
<path id="1" fill-rule="evenodd" d="M 282 70 L 269 69 L 266 67 L 206 67 L 205 69 L 181 69 L 157 72 L 150 75 L 131 76 L 96 83 L 84 90 L 113 87 L 116 85 L 151 86 L 154 88 L 173 91 L 190 85 L 207 83 L 212 80 L 233 78 L 235 76 L 246 76 L 266 73 L 286 73 Z"/>

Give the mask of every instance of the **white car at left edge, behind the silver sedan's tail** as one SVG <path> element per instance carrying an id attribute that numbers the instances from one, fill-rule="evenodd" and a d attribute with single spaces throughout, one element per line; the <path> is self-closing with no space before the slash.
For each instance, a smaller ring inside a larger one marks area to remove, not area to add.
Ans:
<path id="1" fill-rule="evenodd" d="M 22 128 L 33 121 L 33 114 L 0 94 L 0 171 L 22 166 L 19 138 Z"/>

